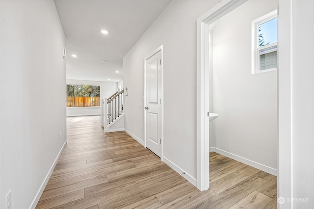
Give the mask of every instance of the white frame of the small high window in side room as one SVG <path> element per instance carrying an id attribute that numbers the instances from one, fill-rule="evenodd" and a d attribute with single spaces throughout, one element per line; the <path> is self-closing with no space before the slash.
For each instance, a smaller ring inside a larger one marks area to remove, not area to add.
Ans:
<path id="1" fill-rule="evenodd" d="M 277 67 L 267 69 L 267 70 L 261 70 L 260 69 L 260 51 L 265 49 L 265 48 L 277 46 L 277 42 L 271 43 L 269 45 L 259 46 L 259 25 L 277 18 L 278 17 L 277 11 L 278 10 L 276 9 L 276 10 L 269 12 L 269 13 L 263 15 L 262 17 L 252 21 L 252 74 L 277 70 Z M 278 31 L 278 28 L 277 28 L 277 31 Z M 272 52 L 273 51 L 277 51 L 277 57 L 278 57 L 278 46 L 276 49 L 273 49 Z M 268 53 L 270 53 L 270 52 L 268 52 Z M 277 63 L 278 63 L 278 59 L 277 59 Z"/>

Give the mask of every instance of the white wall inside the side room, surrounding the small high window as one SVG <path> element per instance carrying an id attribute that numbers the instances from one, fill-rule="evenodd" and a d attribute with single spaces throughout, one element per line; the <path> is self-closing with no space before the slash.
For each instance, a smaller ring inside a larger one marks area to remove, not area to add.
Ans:
<path id="1" fill-rule="evenodd" d="M 277 71 L 251 74 L 251 22 L 277 1 L 249 1 L 213 29 L 214 134 L 210 145 L 277 167 Z"/>

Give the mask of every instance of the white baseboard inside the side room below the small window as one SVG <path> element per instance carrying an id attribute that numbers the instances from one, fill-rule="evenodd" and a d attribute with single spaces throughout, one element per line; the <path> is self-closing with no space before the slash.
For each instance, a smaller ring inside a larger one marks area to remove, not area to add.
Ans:
<path id="1" fill-rule="evenodd" d="M 209 152 L 216 152 L 216 153 L 224 155 L 224 156 L 226 156 L 228 158 L 234 159 L 234 160 L 236 160 L 238 162 L 250 165 L 250 166 L 255 167 L 255 168 L 259 169 L 259 170 L 265 171 L 266 173 L 270 173 L 270 174 L 272 174 L 274 176 L 277 176 L 277 169 L 268 167 L 268 166 L 263 165 L 261 163 L 257 163 L 257 162 L 251 161 L 249 159 L 246 159 L 246 158 L 243 158 L 241 156 L 232 154 L 230 152 L 226 152 L 226 151 L 218 149 L 216 147 L 209 147 Z M 209 167 L 209 169 L 210 169 L 210 167 Z"/>

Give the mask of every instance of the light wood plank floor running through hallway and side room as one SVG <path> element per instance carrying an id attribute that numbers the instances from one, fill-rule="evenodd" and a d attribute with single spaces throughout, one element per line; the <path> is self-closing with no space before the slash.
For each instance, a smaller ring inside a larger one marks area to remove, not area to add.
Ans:
<path id="1" fill-rule="evenodd" d="M 276 208 L 276 177 L 210 153 L 210 189 L 199 191 L 100 116 L 67 118 L 66 145 L 36 209 Z"/>

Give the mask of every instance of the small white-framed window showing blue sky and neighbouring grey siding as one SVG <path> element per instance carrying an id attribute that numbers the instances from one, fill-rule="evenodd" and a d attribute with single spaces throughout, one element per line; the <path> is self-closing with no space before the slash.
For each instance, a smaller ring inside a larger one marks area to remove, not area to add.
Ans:
<path id="1" fill-rule="evenodd" d="M 277 70 L 277 10 L 252 21 L 252 74 Z"/>

